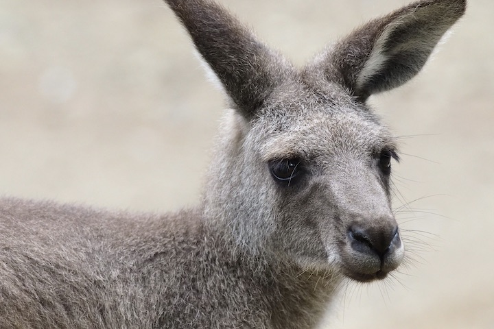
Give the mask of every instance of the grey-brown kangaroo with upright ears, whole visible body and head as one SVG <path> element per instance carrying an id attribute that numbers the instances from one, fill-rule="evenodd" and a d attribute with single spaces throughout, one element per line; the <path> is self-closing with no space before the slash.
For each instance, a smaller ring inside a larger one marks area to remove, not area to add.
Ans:
<path id="1" fill-rule="evenodd" d="M 315 328 L 403 260 L 397 143 L 366 100 L 419 73 L 466 1 L 407 5 L 302 68 L 213 1 L 166 3 L 228 101 L 200 204 L 2 198 L 0 328 Z"/>

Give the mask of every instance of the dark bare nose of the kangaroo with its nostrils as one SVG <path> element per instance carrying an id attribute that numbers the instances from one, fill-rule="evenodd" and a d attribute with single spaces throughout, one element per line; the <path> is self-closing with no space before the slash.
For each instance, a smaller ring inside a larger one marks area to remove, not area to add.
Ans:
<path id="1" fill-rule="evenodd" d="M 398 226 L 389 228 L 364 228 L 354 224 L 349 228 L 351 247 L 357 252 L 375 253 L 381 260 L 388 252 L 393 252 L 401 245 Z"/>

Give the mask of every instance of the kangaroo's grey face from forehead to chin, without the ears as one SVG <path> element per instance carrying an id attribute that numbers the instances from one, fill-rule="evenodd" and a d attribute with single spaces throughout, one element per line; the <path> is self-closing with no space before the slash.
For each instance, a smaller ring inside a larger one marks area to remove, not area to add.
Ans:
<path id="1" fill-rule="evenodd" d="M 261 178 L 257 197 L 272 199 L 277 252 L 355 280 L 384 278 L 403 258 L 390 205 L 394 138 L 350 95 L 317 94 L 267 101 L 244 141 L 257 173 L 239 175 Z"/>

